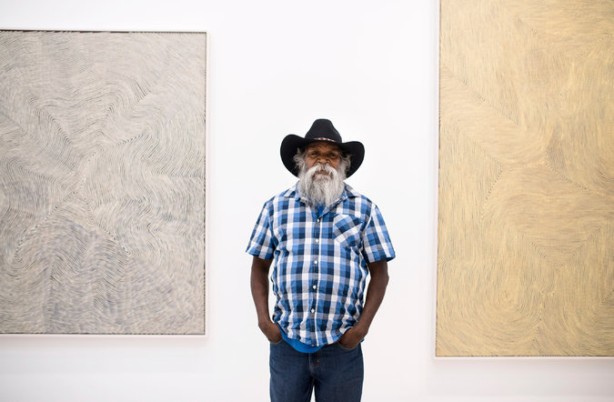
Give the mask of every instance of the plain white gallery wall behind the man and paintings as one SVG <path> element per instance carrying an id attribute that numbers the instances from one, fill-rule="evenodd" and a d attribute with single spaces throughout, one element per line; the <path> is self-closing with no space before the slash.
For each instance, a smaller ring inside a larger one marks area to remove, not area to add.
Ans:
<path id="1" fill-rule="evenodd" d="M 1 401 L 266 401 L 247 239 L 294 183 L 284 136 L 330 118 L 398 257 L 365 401 L 614 400 L 614 359 L 434 357 L 438 2 L 0 0 L 0 28 L 208 33 L 206 337 L 0 337 Z"/>

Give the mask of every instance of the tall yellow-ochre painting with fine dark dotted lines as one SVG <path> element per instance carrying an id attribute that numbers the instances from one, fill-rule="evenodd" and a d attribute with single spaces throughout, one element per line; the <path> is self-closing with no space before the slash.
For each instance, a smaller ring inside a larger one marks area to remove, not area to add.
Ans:
<path id="1" fill-rule="evenodd" d="M 437 356 L 614 356 L 614 2 L 442 0 Z"/>

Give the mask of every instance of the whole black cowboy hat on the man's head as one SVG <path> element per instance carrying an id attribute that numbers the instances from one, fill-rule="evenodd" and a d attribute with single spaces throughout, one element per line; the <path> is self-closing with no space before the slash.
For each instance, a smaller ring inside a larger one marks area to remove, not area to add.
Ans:
<path id="1" fill-rule="evenodd" d="M 309 131 L 307 131 L 305 138 L 290 134 L 281 142 L 281 160 L 291 174 L 298 176 L 298 167 L 294 162 L 294 156 L 297 155 L 297 149 L 317 141 L 336 144 L 343 152 L 350 155 L 347 177 L 352 176 L 354 172 L 358 170 L 358 167 L 360 167 L 365 157 L 365 146 L 358 141 L 344 143 L 341 140 L 341 135 L 339 135 L 339 132 L 330 120 L 318 118 L 314 124 L 311 125 Z"/>

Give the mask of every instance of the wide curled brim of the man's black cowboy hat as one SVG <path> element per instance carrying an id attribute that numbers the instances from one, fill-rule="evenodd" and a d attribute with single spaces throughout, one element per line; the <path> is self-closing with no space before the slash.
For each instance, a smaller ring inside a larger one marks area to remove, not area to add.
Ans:
<path id="1" fill-rule="evenodd" d="M 349 168 L 347 169 L 346 177 L 354 175 L 358 170 L 358 167 L 362 165 L 362 161 L 365 158 L 365 146 L 358 141 L 349 141 L 347 143 L 337 143 L 334 141 L 322 141 L 311 138 L 304 138 L 294 134 L 287 135 L 281 142 L 279 153 L 281 154 L 281 160 L 286 166 L 287 170 L 294 176 L 298 176 L 298 167 L 294 162 L 294 156 L 297 155 L 297 149 L 316 142 L 326 142 L 335 144 L 341 150 L 350 155 Z"/>

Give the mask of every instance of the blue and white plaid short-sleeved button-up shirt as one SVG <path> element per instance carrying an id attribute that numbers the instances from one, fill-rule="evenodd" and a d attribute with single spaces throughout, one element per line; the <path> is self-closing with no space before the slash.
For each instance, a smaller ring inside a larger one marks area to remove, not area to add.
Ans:
<path id="1" fill-rule="evenodd" d="M 275 257 L 273 322 L 310 347 L 332 344 L 360 317 L 367 264 L 395 251 L 379 209 L 350 186 L 321 214 L 294 186 L 265 203 L 247 246 Z"/>

